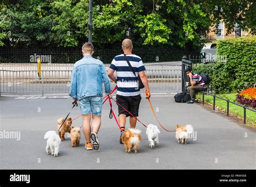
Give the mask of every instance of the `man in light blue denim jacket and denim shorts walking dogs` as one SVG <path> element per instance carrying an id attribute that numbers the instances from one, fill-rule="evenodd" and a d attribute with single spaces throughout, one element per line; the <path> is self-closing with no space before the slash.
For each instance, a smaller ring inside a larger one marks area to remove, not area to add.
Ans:
<path id="1" fill-rule="evenodd" d="M 86 42 L 82 47 L 82 52 L 83 59 L 77 61 L 73 66 L 69 95 L 73 98 L 73 102 L 77 100 L 79 102 L 83 116 L 85 148 L 92 150 L 92 147 L 94 149 L 99 148 L 97 133 L 102 114 L 102 81 L 106 94 L 109 94 L 111 89 L 103 62 L 92 57 L 93 45 Z M 92 131 L 90 126 L 91 117 Z M 91 139 L 93 143 L 91 143 Z"/>

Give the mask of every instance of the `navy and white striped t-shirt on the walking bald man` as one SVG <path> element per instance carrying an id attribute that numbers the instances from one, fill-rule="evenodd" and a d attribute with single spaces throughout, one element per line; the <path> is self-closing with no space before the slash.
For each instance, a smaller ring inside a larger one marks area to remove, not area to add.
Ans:
<path id="1" fill-rule="evenodd" d="M 127 54 L 131 66 L 133 67 L 136 76 L 139 76 L 139 71 L 145 71 L 146 68 L 142 59 L 134 54 Z M 117 71 L 117 95 L 120 96 L 137 96 L 139 95 L 139 88 L 137 77 L 133 74 L 124 54 L 114 57 L 110 64 L 110 68 Z"/>

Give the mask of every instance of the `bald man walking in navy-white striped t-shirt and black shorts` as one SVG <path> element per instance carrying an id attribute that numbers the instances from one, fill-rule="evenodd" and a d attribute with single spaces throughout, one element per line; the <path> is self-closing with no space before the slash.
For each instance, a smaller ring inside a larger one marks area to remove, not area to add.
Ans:
<path id="1" fill-rule="evenodd" d="M 146 90 L 149 90 L 149 83 L 147 82 L 147 77 L 145 74 L 145 66 L 142 59 L 132 54 L 132 41 L 130 39 L 125 39 L 122 42 L 122 49 L 124 54 L 120 54 L 114 57 L 110 64 L 110 68 L 107 71 L 110 79 L 117 83 L 117 102 L 120 103 L 125 109 L 130 111 L 134 117 L 138 117 L 139 104 L 142 97 L 140 96 L 140 89 L 138 86 L 138 76 L 141 78 L 142 83 Z M 130 61 L 132 69 L 129 67 L 127 60 Z M 114 77 L 113 73 L 117 71 L 117 77 Z M 146 95 L 147 98 L 150 97 L 150 92 Z M 136 118 L 132 117 L 127 113 L 122 107 L 118 106 L 118 121 L 121 127 L 121 135 L 125 131 L 126 117 L 130 116 L 130 128 L 136 127 Z M 122 143 L 120 138 L 120 143 Z"/>

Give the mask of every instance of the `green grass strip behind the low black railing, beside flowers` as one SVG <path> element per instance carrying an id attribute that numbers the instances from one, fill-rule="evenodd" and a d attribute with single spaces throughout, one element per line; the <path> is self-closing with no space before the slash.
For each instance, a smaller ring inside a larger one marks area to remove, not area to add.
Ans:
<path id="1" fill-rule="evenodd" d="M 237 93 L 225 93 L 220 94 L 218 96 L 223 97 L 225 99 L 229 99 L 232 102 L 236 102 L 236 95 Z M 203 94 L 198 93 L 197 98 L 203 99 Z M 213 96 L 205 95 L 205 102 L 213 104 Z M 220 107 L 221 109 L 227 111 L 227 102 L 225 100 L 221 100 L 219 98 L 215 98 L 215 105 Z M 237 106 L 235 104 L 230 103 L 230 112 L 233 112 L 240 116 L 241 118 L 244 118 L 244 108 L 241 106 Z M 256 123 L 256 114 L 255 112 L 251 110 L 246 110 L 246 119 L 250 120 L 252 123 Z"/>

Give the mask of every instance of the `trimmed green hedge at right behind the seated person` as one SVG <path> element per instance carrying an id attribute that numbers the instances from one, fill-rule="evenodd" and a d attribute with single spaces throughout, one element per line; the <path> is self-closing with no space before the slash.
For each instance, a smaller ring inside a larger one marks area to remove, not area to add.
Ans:
<path id="1" fill-rule="evenodd" d="M 216 93 L 237 92 L 254 87 L 256 80 L 256 36 L 224 39 L 217 42 L 219 59 L 212 64 L 193 67 L 197 73 L 208 73 Z"/>

